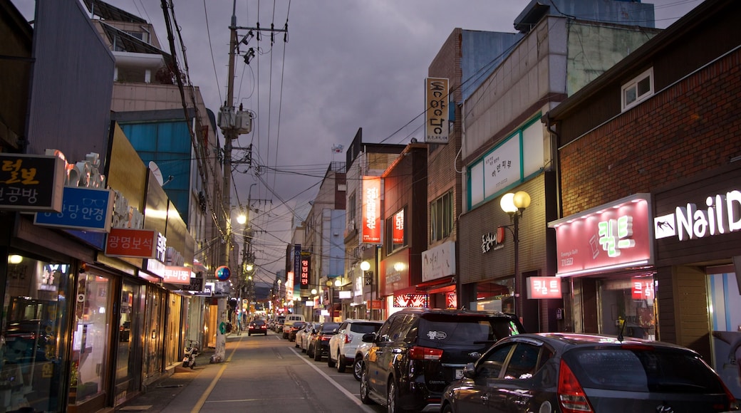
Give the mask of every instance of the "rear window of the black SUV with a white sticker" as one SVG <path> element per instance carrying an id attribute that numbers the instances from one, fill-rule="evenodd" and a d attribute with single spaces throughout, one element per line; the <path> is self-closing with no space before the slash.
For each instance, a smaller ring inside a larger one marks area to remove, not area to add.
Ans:
<path id="1" fill-rule="evenodd" d="M 471 345 L 494 343 L 519 334 L 515 323 L 505 317 L 429 315 L 419 320 L 419 341 Z"/>

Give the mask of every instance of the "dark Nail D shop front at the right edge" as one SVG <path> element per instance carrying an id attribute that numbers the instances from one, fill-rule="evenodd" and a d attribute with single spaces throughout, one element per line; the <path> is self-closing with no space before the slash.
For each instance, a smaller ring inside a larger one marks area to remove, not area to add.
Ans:
<path id="1" fill-rule="evenodd" d="M 699 351 L 741 397 L 741 165 L 654 192 L 654 205 L 657 295 L 674 297 L 659 337 Z"/>

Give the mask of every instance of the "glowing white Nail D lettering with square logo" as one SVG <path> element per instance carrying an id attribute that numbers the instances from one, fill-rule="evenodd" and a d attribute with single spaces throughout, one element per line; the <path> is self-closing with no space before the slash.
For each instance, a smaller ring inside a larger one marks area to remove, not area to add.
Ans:
<path id="1" fill-rule="evenodd" d="M 674 214 L 654 218 L 656 239 L 677 237 L 679 241 L 693 240 L 741 229 L 741 192 L 733 190 L 725 195 L 705 198 L 705 209 L 696 204 L 677 206 Z"/>

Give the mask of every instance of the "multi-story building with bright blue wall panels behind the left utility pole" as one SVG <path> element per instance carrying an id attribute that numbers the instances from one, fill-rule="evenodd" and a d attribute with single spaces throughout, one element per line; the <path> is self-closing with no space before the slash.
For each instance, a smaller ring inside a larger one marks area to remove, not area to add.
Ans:
<path id="1" fill-rule="evenodd" d="M 213 216 L 225 215 L 222 205 L 222 171 L 216 154 L 219 139 L 215 117 L 207 110 L 198 87 L 176 81 L 176 59 L 162 50 L 152 24 L 104 1 L 85 1 L 93 25 L 115 61 L 111 110 L 145 164 L 156 170 L 167 197 L 180 212 L 195 240 L 196 277 L 216 282 L 214 270 L 221 264 L 236 269 L 236 252 L 223 263 L 225 234 Z M 181 93 L 182 92 L 182 93 Z M 185 106 L 182 96 L 186 96 Z M 218 323 L 209 316 L 215 305 L 205 297 L 169 289 L 187 298 L 185 339 L 216 343 Z M 190 305 L 192 304 L 192 305 Z M 213 308 L 212 308 L 213 307 Z M 204 335 L 202 320 L 210 321 Z M 173 352 L 170 362 L 179 355 Z"/>

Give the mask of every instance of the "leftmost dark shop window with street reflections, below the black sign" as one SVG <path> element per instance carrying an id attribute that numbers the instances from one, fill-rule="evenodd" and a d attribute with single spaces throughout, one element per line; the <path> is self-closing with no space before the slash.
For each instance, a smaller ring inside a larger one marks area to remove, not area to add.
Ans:
<path id="1" fill-rule="evenodd" d="M 8 260 L 0 335 L 0 411 L 59 412 L 64 380 L 69 263 Z"/>

